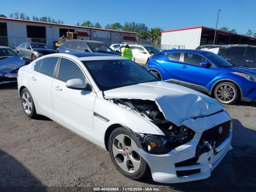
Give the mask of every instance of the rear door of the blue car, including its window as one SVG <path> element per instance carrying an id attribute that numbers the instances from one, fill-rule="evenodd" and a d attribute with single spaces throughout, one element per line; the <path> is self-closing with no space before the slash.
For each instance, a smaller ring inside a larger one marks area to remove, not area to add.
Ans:
<path id="1" fill-rule="evenodd" d="M 180 52 L 170 52 L 166 53 L 166 58 L 162 61 L 158 61 L 164 70 L 166 70 L 166 73 L 161 74 L 162 80 L 178 84 L 180 79 L 180 56 Z"/>

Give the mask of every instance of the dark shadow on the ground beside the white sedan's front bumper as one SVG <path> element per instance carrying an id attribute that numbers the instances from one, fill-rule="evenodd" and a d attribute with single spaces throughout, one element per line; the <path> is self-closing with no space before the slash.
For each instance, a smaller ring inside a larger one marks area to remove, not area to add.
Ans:
<path id="1" fill-rule="evenodd" d="M 210 178 L 200 181 L 162 184 L 170 189 L 184 192 L 194 191 L 256 191 L 256 131 L 244 127 L 239 120 L 233 119 L 233 149 L 228 152 L 220 164 L 212 171 Z"/>

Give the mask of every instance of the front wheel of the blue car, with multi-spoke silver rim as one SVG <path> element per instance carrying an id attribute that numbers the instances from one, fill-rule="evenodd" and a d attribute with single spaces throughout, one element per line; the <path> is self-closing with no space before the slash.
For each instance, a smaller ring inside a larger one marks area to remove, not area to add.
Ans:
<path id="1" fill-rule="evenodd" d="M 239 98 L 239 91 L 236 84 L 231 82 L 222 82 L 214 89 L 214 96 L 220 103 L 233 104 Z"/>

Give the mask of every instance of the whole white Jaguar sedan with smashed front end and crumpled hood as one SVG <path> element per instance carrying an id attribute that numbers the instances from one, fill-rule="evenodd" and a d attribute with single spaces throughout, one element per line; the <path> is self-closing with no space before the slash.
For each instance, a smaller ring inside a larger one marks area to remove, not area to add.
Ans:
<path id="1" fill-rule="evenodd" d="M 108 150 L 134 180 L 148 172 L 164 183 L 208 178 L 232 149 L 221 104 L 120 56 L 42 56 L 20 68 L 18 90 L 28 117 L 47 116 Z"/>

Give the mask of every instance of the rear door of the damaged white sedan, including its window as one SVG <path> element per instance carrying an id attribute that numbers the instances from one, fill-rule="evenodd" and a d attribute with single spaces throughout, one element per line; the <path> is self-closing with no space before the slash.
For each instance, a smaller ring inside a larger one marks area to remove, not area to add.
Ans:
<path id="1" fill-rule="evenodd" d="M 52 81 L 58 59 L 59 57 L 46 57 L 38 60 L 28 77 L 29 91 L 39 106 L 38 110 L 50 117 L 53 116 Z"/>

